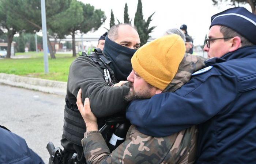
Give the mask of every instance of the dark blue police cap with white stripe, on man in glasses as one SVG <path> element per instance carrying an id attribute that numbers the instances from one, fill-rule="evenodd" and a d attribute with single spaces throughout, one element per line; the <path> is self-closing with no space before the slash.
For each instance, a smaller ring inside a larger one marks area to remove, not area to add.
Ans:
<path id="1" fill-rule="evenodd" d="M 226 26 L 256 44 L 256 15 L 244 7 L 230 8 L 211 17 L 211 26 Z"/>

